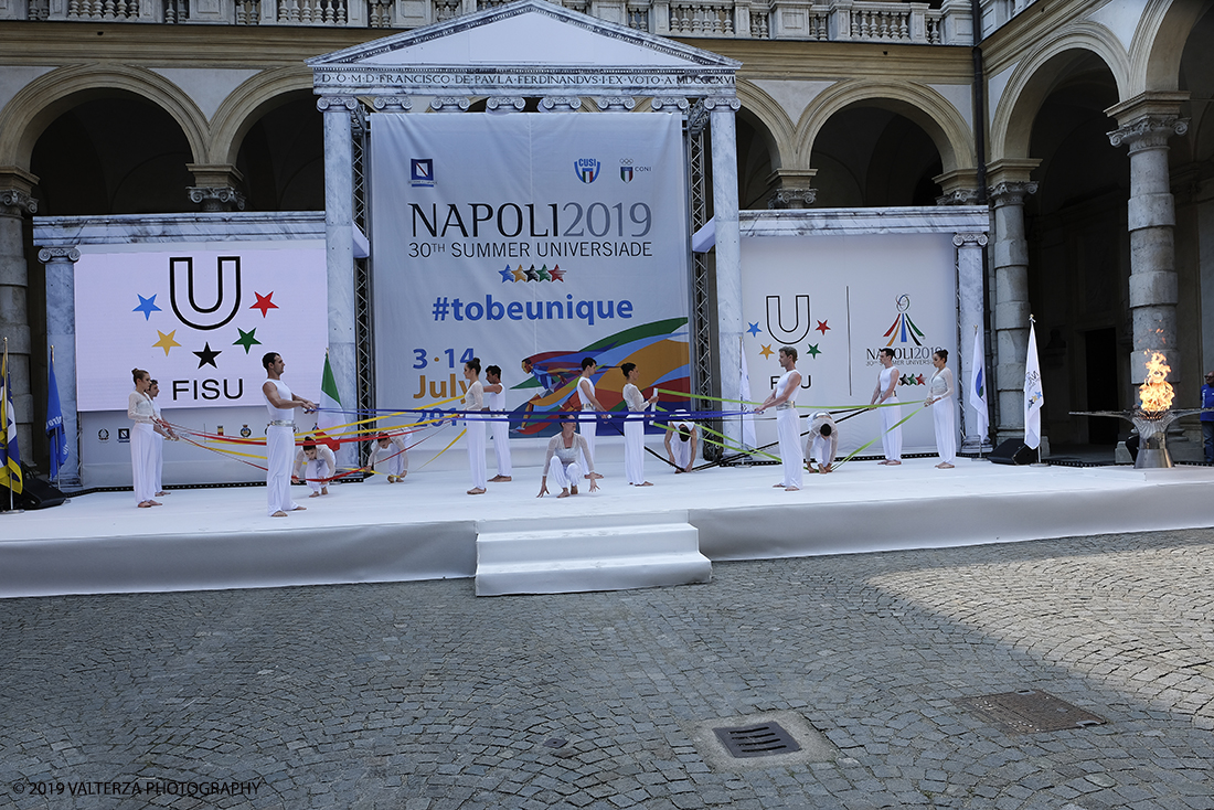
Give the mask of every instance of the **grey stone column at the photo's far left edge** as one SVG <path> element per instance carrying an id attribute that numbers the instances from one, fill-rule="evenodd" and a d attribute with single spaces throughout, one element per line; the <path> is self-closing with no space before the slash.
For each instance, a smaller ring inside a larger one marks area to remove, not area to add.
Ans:
<path id="1" fill-rule="evenodd" d="M 12 380 L 12 407 L 17 420 L 17 447 L 27 464 L 33 458 L 34 396 L 29 380 L 29 315 L 25 288 L 23 217 L 38 211 L 30 197 L 38 179 L 16 166 L 0 169 L 0 338 L 8 339 L 8 376 Z M 2 341 L 0 341 L 2 352 Z"/>

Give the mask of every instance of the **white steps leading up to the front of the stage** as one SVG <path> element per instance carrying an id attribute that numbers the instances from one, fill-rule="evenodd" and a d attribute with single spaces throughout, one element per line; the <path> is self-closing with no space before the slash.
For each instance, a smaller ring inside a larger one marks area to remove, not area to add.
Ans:
<path id="1" fill-rule="evenodd" d="M 560 526 L 560 527 L 557 527 Z M 708 582 L 686 511 L 477 521 L 476 595 L 572 594 Z"/>

